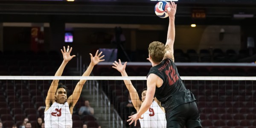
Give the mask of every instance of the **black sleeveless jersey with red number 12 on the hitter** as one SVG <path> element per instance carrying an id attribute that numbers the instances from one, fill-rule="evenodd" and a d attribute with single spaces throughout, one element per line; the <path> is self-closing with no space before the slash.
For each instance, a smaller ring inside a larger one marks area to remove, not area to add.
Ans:
<path id="1" fill-rule="evenodd" d="M 151 67 L 148 76 L 153 73 L 163 80 L 161 87 L 156 87 L 154 96 L 165 110 L 171 111 L 179 105 L 195 101 L 194 95 L 186 89 L 174 62 L 167 58 Z"/>

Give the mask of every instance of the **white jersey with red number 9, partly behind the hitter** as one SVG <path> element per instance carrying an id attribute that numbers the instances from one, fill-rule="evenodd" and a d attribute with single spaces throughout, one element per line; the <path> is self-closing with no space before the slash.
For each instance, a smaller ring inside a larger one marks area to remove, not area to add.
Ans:
<path id="1" fill-rule="evenodd" d="M 143 117 L 139 119 L 141 128 L 166 128 L 165 113 L 155 101 L 141 117 Z"/>

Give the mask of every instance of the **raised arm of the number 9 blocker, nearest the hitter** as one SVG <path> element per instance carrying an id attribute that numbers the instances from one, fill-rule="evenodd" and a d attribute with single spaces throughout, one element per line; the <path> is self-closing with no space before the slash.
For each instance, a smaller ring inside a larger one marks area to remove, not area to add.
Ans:
<path id="1" fill-rule="evenodd" d="M 118 70 L 122 76 L 128 76 L 127 73 L 125 72 L 125 67 L 126 67 L 127 62 L 125 62 L 124 65 L 122 65 L 121 60 L 119 59 L 119 63 L 115 61 L 113 63 L 114 66 L 112 66 L 114 69 Z M 131 96 L 131 102 L 134 105 L 134 108 L 139 111 L 140 106 L 142 104 L 142 101 L 140 100 L 140 97 L 137 93 L 137 90 L 134 88 L 134 86 L 131 83 L 131 80 L 124 80 L 125 86 L 127 87 L 130 96 Z"/>

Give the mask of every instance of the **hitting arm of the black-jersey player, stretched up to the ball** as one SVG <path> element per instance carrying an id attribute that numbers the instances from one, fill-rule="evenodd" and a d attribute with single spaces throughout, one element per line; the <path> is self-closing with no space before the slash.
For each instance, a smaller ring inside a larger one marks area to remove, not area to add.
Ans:
<path id="1" fill-rule="evenodd" d="M 164 55 L 165 58 L 170 58 L 172 61 L 174 61 L 174 55 L 173 55 L 173 44 L 175 41 L 175 14 L 177 5 L 174 2 L 169 3 L 170 8 L 166 10 L 169 16 L 169 26 L 168 26 L 168 32 L 167 32 L 167 40 L 166 40 L 166 54 Z"/>

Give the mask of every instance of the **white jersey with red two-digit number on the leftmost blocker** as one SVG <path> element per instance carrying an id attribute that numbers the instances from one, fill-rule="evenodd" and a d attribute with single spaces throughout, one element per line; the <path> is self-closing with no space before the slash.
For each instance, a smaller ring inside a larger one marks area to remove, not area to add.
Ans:
<path id="1" fill-rule="evenodd" d="M 45 128 L 72 128 L 72 115 L 67 102 L 59 104 L 54 102 L 52 106 L 44 112 Z"/>

